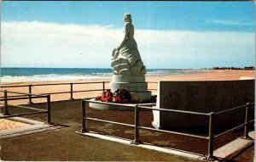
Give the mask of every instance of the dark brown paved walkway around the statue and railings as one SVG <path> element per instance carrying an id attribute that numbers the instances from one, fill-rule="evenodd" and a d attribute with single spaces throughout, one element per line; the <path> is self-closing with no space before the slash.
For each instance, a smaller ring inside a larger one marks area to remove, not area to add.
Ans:
<path id="1" fill-rule="evenodd" d="M 35 108 L 45 108 L 45 103 L 33 104 Z M 110 117 L 115 120 L 123 120 L 125 112 L 118 112 L 118 115 L 113 115 L 113 112 L 103 112 L 101 110 L 90 111 L 90 115 L 99 117 Z M 15 109 L 10 111 L 15 113 Z M 126 115 L 127 114 L 127 115 Z M 126 112 L 126 117 L 131 120 L 130 113 Z M 143 116 L 143 115 L 142 115 Z M 152 116 L 147 113 L 144 115 L 145 119 Z M 33 120 L 46 121 L 46 115 L 27 116 Z M 133 119 L 133 118 L 132 118 Z M 149 119 L 148 122 L 152 120 Z M 55 124 L 64 125 L 60 129 L 54 131 L 45 130 L 41 132 L 33 132 L 32 134 L 10 137 L 0 140 L 2 160 L 83 160 L 83 161 L 199 161 L 198 159 L 189 159 L 181 156 L 166 154 L 163 152 L 149 150 L 147 148 L 138 148 L 131 145 L 125 145 L 118 142 L 111 142 L 95 137 L 80 136 L 75 131 L 81 129 L 81 109 L 80 101 L 68 101 L 52 103 L 52 121 Z M 147 123 L 145 123 L 147 125 Z M 101 130 L 103 133 L 116 133 L 132 138 L 132 131 L 125 129 L 125 134 L 119 126 L 112 128 L 111 126 L 102 126 L 90 124 L 91 129 Z M 117 130 L 117 131 L 113 131 Z M 129 135 L 129 136 L 128 136 Z M 171 146 L 172 148 L 186 148 L 188 151 L 196 149 L 199 154 L 204 154 L 207 148 L 207 142 L 197 141 L 195 138 L 175 137 L 154 132 L 143 132 L 143 141 L 150 141 L 160 146 Z M 162 137 L 160 137 L 162 136 Z M 226 138 L 224 142 L 228 143 L 231 138 L 234 139 L 239 134 Z M 163 138 L 162 143 L 160 139 Z M 194 142 L 194 143 L 193 143 Z M 189 143 L 189 144 L 188 144 Z M 190 144 L 193 143 L 193 144 Z M 195 145 L 195 144 L 200 145 Z M 223 142 L 218 142 L 222 144 Z M 194 146 L 193 146 L 194 145 Z M 202 147 L 198 147 L 202 146 Z M 248 161 L 253 161 L 254 149 L 248 148 L 246 152 L 234 157 L 235 161 L 243 161 L 244 157 L 248 157 Z"/>

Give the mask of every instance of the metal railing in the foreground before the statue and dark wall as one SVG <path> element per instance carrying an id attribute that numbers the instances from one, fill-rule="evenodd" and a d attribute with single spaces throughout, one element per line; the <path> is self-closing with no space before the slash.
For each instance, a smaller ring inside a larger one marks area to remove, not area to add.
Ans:
<path id="1" fill-rule="evenodd" d="M 133 107 L 134 108 L 134 112 L 135 112 L 135 121 L 134 121 L 134 125 L 131 124 L 126 124 L 126 123 L 120 123 L 120 122 L 115 122 L 115 121 L 109 121 L 109 120 L 99 120 L 99 119 L 94 119 L 94 118 L 90 118 L 86 116 L 86 112 L 85 112 L 85 105 L 86 103 L 100 103 L 100 104 L 109 104 L 109 105 L 119 105 L 119 106 L 126 106 L 126 107 Z M 99 122 L 105 122 L 105 123 L 111 123 L 111 124 L 115 124 L 115 125 L 119 125 L 119 126 L 130 126 L 133 127 L 135 129 L 135 133 L 134 133 L 134 141 L 131 142 L 132 144 L 140 144 L 142 143 L 142 141 L 140 140 L 140 130 L 148 130 L 148 131 L 160 131 L 160 132 L 166 132 L 166 133 L 172 133 L 172 134 L 177 134 L 177 135 L 181 135 L 181 136 L 185 136 L 185 137 L 195 137 L 195 138 L 200 138 L 200 139 L 205 139 L 208 141 L 208 147 L 207 147 L 207 160 L 214 160 L 215 157 L 213 156 L 213 145 L 214 145 L 214 140 L 217 139 L 218 137 L 222 137 L 227 133 L 236 131 L 237 129 L 240 129 L 242 127 L 244 127 L 244 132 L 243 132 L 243 137 L 244 139 L 251 139 L 248 136 L 248 126 L 250 123 L 252 123 L 254 120 L 248 120 L 248 107 L 250 104 L 254 104 L 254 103 L 247 103 L 244 105 L 241 105 L 239 107 L 236 108 L 232 108 L 232 109 L 227 109 L 224 111 L 220 111 L 218 113 L 199 113 L 199 112 L 193 112 L 193 111 L 184 111 L 184 110 L 177 110 L 177 109 L 159 109 L 159 108 L 149 108 L 146 106 L 143 106 L 141 104 L 136 104 L 136 105 L 124 105 L 124 104 L 120 104 L 120 103 L 103 103 L 103 102 L 98 102 L 98 101 L 92 101 L 92 100 L 86 100 L 86 99 L 82 99 L 82 103 L 81 103 L 81 107 L 82 107 L 82 129 L 81 132 L 88 132 L 89 129 L 86 128 L 86 120 L 94 120 L 94 121 L 99 121 Z M 240 126 L 236 126 L 235 128 L 232 128 L 228 131 L 224 131 L 218 135 L 215 135 L 214 133 L 214 126 L 215 126 L 215 116 L 216 115 L 220 115 L 220 114 L 224 114 L 226 112 L 230 112 L 234 109 L 241 109 L 241 108 L 245 108 L 245 122 L 243 124 L 241 124 Z M 146 126 L 140 126 L 140 114 L 139 111 L 140 109 L 150 109 L 150 110 L 158 110 L 158 111 L 166 111 L 166 112 L 173 112 L 173 113 L 181 113 L 181 114 L 189 114 L 189 115 L 202 115 L 202 116 L 208 116 L 208 136 L 199 136 L 199 135 L 195 135 L 195 134 L 189 134 L 189 133 L 183 133 L 180 131 L 166 131 L 166 130 L 159 130 L 159 129 L 155 129 L 152 127 L 146 127 Z"/>

